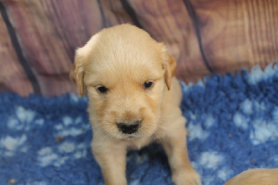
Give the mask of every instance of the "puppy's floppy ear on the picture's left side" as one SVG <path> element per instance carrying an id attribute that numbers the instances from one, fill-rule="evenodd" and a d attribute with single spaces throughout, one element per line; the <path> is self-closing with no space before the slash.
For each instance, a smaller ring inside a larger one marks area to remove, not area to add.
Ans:
<path id="1" fill-rule="evenodd" d="M 84 61 L 85 57 L 82 55 L 81 50 L 77 49 L 74 64 L 72 65 L 72 70 L 70 70 L 70 79 L 76 84 L 77 90 L 81 97 L 85 93 L 85 86 L 84 86 Z"/>

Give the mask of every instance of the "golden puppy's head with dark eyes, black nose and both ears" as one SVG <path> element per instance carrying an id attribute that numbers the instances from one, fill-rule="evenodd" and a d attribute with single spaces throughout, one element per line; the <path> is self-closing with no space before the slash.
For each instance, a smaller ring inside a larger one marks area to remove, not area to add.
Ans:
<path id="1" fill-rule="evenodd" d="M 152 136 L 176 62 L 136 26 L 104 29 L 76 50 L 70 78 L 87 94 L 99 127 L 117 139 Z"/>

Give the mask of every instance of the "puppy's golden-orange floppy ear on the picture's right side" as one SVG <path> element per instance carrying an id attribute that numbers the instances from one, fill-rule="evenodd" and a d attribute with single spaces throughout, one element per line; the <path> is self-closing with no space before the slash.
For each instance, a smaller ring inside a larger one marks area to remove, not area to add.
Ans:
<path id="1" fill-rule="evenodd" d="M 162 53 L 163 53 L 162 65 L 163 65 L 163 69 L 165 70 L 165 83 L 168 90 L 170 90 L 172 78 L 174 77 L 174 73 L 177 70 L 177 63 L 176 60 L 174 60 L 174 57 L 171 54 L 169 54 L 169 52 L 167 51 L 164 45 L 162 48 Z"/>

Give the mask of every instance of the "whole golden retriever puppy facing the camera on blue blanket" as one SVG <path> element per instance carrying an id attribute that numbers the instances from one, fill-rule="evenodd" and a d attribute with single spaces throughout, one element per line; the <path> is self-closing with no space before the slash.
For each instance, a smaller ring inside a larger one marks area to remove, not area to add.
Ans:
<path id="1" fill-rule="evenodd" d="M 201 184 L 188 159 L 176 61 L 130 24 L 103 29 L 76 50 L 70 78 L 88 95 L 92 153 L 105 184 L 126 184 L 126 151 L 157 140 L 175 184 Z"/>

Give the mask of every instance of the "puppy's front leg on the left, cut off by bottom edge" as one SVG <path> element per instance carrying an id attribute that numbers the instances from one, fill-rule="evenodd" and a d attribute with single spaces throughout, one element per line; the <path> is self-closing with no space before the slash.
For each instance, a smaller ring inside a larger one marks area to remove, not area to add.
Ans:
<path id="1" fill-rule="evenodd" d="M 92 140 L 92 153 L 99 163 L 106 185 L 125 185 L 126 148 L 116 142 Z"/>

